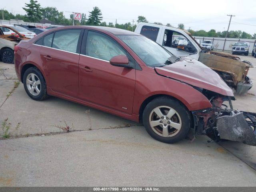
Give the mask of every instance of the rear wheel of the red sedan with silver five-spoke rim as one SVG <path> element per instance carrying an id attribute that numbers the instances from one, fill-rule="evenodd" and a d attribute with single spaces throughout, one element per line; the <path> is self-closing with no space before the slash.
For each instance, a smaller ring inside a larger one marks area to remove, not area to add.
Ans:
<path id="1" fill-rule="evenodd" d="M 23 75 L 23 84 L 26 93 L 34 100 L 48 98 L 46 82 L 40 70 L 36 67 L 28 68 Z"/>

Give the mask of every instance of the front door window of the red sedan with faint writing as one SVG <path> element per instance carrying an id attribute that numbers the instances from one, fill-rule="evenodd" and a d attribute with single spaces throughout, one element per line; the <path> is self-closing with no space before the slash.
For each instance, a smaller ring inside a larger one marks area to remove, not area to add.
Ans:
<path id="1" fill-rule="evenodd" d="M 98 32 L 89 31 L 86 55 L 109 61 L 114 56 L 126 55 L 126 52 L 112 38 Z"/>

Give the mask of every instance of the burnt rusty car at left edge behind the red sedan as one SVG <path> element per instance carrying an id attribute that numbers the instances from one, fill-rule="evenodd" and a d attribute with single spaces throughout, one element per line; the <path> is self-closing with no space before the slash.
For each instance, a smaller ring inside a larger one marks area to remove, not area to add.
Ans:
<path id="1" fill-rule="evenodd" d="M 4 26 L 4 25 L 1 25 Z M 2 29 L 0 28 L 0 58 L 4 63 L 13 63 L 14 62 L 14 47 L 21 41 L 26 40 L 18 31 L 14 30 L 11 27 L 4 26 L 15 32 L 15 34 L 5 35 Z"/>

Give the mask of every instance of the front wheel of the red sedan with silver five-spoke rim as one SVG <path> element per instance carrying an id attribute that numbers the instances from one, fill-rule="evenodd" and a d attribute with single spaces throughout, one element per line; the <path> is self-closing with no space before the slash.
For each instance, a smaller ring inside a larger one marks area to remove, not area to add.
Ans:
<path id="1" fill-rule="evenodd" d="M 186 137 L 191 126 L 191 115 L 179 101 L 160 97 L 149 102 L 143 112 L 143 124 L 154 139 L 175 143 Z"/>

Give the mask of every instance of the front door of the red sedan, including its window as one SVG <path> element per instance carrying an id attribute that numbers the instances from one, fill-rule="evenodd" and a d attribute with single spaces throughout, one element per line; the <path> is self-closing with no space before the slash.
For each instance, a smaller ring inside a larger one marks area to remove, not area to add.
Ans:
<path id="1" fill-rule="evenodd" d="M 112 66 L 109 60 L 117 55 L 126 55 L 130 64 L 135 64 L 134 59 L 110 36 L 95 31 L 85 32 L 79 60 L 79 97 L 132 114 L 135 69 Z"/>

